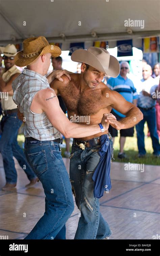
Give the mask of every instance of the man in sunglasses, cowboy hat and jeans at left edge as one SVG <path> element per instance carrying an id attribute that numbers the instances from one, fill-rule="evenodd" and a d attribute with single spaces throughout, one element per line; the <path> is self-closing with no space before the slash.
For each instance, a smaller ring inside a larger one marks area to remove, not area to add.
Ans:
<path id="1" fill-rule="evenodd" d="M 8 44 L 3 49 L 3 60 L 5 68 L 0 74 L 0 91 L 3 117 L 1 120 L 2 137 L 0 141 L 0 152 L 3 158 L 6 184 L 2 190 L 11 190 L 17 184 L 17 171 L 13 156 L 24 169 L 30 183 L 26 187 L 34 185 L 38 179 L 27 163 L 23 150 L 17 142 L 18 130 L 22 124 L 17 117 L 17 105 L 12 99 L 12 82 L 21 73 L 15 65 L 15 55 L 17 49 L 13 44 Z"/>

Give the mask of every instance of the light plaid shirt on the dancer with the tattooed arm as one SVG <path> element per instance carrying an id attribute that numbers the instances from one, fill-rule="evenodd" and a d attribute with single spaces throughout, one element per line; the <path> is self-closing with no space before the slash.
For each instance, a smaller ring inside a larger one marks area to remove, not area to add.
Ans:
<path id="1" fill-rule="evenodd" d="M 34 95 L 45 88 L 50 88 L 47 78 L 26 68 L 12 83 L 12 98 L 26 121 L 23 128 L 24 136 L 40 141 L 60 138 L 60 133 L 52 126 L 45 113 L 36 114 L 30 110 Z"/>

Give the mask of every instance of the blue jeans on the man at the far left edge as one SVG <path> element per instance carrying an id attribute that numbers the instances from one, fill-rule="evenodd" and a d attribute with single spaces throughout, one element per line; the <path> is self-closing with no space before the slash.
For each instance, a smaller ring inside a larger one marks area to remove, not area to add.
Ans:
<path id="1" fill-rule="evenodd" d="M 17 183 L 17 171 L 13 156 L 19 162 L 29 180 L 36 178 L 33 170 L 27 163 L 23 150 L 17 142 L 18 130 L 21 124 L 22 121 L 18 119 L 17 113 L 3 116 L 1 120 L 2 137 L 0 140 L 0 152 L 3 158 L 6 182 L 10 184 Z"/>

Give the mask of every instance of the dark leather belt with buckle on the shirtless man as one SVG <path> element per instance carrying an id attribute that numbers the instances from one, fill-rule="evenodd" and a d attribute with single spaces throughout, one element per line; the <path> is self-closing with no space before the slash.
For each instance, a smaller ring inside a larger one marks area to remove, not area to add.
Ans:
<path id="1" fill-rule="evenodd" d="M 110 133 L 108 134 L 108 137 L 109 137 L 109 139 L 111 138 Z M 95 147 L 97 145 L 101 145 L 101 138 L 97 137 L 97 138 L 93 138 L 93 139 L 86 140 L 86 141 L 73 139 L 73 145 L 77 145 L 82 149 L 84 147 Z"/>

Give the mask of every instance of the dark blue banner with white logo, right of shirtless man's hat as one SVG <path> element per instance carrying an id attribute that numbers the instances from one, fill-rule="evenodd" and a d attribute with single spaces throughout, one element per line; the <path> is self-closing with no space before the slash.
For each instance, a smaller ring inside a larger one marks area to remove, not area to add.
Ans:
<path id="1" fill-rule="evenodd" d="M 132 39 L 117 41 L 117 57 L 133 56 L 132 47 Z"/>

